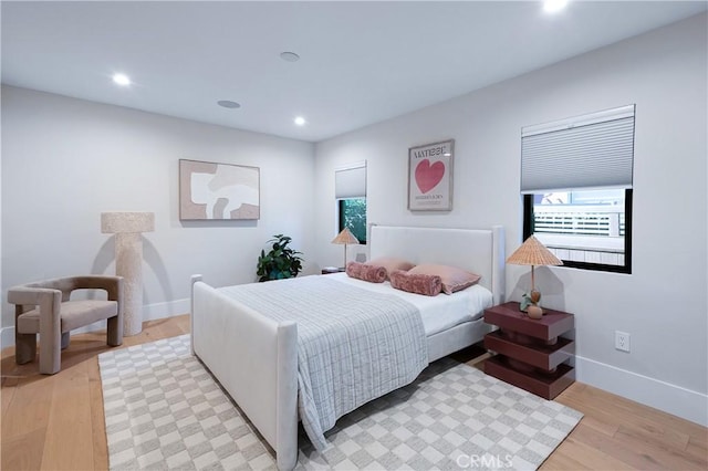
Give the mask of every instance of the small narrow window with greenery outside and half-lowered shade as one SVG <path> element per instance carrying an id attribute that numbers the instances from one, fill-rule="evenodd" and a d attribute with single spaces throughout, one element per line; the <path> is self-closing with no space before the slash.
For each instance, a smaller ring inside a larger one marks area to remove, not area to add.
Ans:
<path id="1" fill-rule="evenodd" d="M 337 232 L 346 227 L 360 243 L 366 243 L 366 163 L 337 169 L 334 176 Z"/>

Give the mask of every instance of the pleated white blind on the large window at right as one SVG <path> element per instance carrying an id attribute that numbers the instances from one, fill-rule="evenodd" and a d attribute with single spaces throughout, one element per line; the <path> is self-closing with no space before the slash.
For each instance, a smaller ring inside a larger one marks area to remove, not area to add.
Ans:
<path id="1" fill-rule="evenodd" d="M 521 192 L 632 188 L 635 105 L 521 129 Z"/>

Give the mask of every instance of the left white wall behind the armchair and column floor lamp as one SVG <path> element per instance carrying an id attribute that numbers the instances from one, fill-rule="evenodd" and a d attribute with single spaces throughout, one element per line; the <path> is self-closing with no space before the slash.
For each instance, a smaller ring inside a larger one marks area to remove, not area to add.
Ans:
<path id="1" fill-rule="evenodd" d="M 13 325 L 10 286 L 115 273 L 105 211 L 155 212 L 143 234 L 146 318 L 187 313 L 194 273 L 254 281 L 272 234 L 291 236 L 309 264 L 313 155 L 310 143 L 3 86 L 2 326 Z M 260 167 L 260 220 L 180 221 L 180 158 Z"/>

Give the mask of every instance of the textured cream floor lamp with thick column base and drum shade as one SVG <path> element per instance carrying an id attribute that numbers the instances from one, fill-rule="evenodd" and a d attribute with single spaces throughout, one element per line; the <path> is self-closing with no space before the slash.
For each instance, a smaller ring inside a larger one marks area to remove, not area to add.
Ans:
<path id="1" fill-rule="evenodd" d="M 101 232 L 115 233 L 115 274 L 123 276 L 123 335 L 143 332 L 143 239 L 155 230 L 153 212 L 103 212 Z"/>

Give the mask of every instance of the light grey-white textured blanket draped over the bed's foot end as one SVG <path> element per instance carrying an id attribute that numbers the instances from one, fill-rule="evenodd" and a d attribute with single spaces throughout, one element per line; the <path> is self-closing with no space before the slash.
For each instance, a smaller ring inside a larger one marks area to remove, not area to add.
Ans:
<path id="1" fill-rule="evenodd" d="M 313 444 L 336 419 L 412 383 L 428 365 L 416 306 L 329 276 L 219 289 L 274 321 L 298 323 L 298 408 Z"/>

